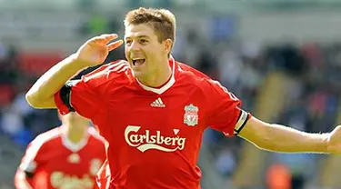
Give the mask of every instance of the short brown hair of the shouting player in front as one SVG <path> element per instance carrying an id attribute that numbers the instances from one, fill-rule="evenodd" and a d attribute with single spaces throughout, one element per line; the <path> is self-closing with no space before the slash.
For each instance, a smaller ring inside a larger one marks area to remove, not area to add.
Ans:
<path id="1" fill-rule="evenodd" d="M 158 41 L 176 38 L 176 16 L 165 9 L 138 8 L 125 15 L 125 27 L 128 25 L 149 24 L 153 27 Z"/>

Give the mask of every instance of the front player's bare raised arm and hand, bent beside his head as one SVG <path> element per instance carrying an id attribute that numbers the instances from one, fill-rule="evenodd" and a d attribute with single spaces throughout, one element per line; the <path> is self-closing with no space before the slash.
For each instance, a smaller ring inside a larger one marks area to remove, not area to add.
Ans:
<path id="1" fill-rule="evenodd" d="M 35 108 L 55 108 L 54 95 L 65 82 L 88 66 L 100 65 L 111 50 L 123 44 L 122 40 L 108 43 L 117 35 L 99 35 L 85 42 L 74 55 L 59 62 L 42 75 L 25 95 L 28 104 Z"/>

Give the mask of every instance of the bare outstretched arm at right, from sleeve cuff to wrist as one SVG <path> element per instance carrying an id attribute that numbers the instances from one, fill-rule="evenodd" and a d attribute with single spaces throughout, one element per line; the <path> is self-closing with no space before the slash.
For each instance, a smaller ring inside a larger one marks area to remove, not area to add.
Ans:
<path id="1" fill-rule="evenodd" d="M 251 116 L 238 134 L 257 147 L 282 153 L 326 153 L 330 134 L 309 134 Z"/>

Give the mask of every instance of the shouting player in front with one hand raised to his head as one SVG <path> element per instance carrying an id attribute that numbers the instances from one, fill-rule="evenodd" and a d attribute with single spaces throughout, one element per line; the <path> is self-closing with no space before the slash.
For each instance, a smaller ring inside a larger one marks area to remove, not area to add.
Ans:
<path id="1" fill-rule="evenodd" d="M 165 9 L 130 11 L 125 16 L 126 61 L 65 85 L 77 71 L 103 63 L 109 51 L 123 44 L 109 44 L 117 35 L 96 36 L 26 94 L 36 108 L 75 111 L 98 125 L 109 144 L 110 174 L 102 172 L 103 188 L 199 188 L 196 162 L 208 126 L 271 151 L 341 152 L 340 127 L 331 134 L 306 134 L 247 114 L 225 87 L 170 56 L 175 33 L 175 16 Z"/>

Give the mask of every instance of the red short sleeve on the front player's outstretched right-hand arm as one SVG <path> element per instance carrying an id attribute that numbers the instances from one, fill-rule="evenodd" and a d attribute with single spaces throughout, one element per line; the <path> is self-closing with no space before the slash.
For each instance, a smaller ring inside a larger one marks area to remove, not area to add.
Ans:
<path id="1" fill-rule="evenodd" d="M 249 114 L 241 109 L 242 102 L 219 82 L 209 80 L 208 83 L 210 108 L 207 125 L 226 135 L 239 133 L 249 118 Z"/>

